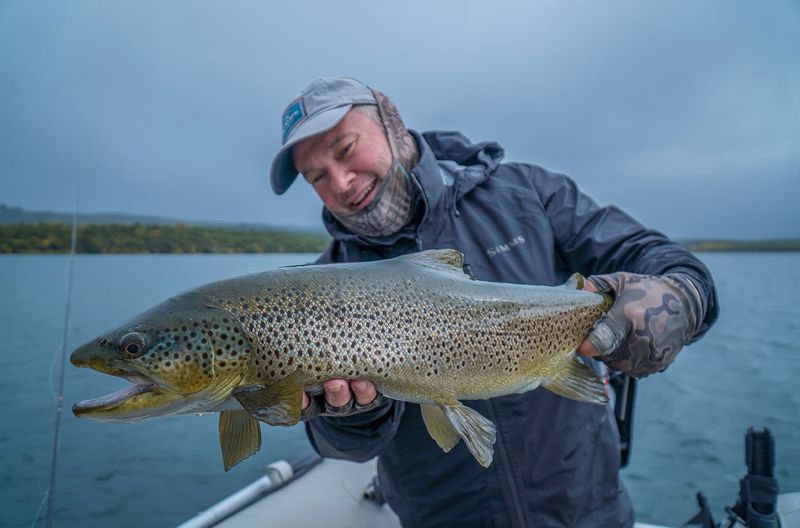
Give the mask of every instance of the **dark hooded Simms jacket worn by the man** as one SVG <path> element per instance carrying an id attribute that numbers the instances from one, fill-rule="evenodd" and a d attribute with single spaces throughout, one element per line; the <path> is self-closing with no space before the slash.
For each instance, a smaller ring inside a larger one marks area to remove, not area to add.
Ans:
<path id="1" fill-rule="evenodd" d="M 324 211 L 334 241 L 320 262 L 455 248 L 465 255 L 465 271 L 477 279 L 543 285 L 561 284 L 574 272 L 680 270 L 696 279 L 707 299 L 696 337 L 716 319 L 710 273 L 663 234 L 616 207 L 599 207 L 566 176 L 501 163 L 497 143 L 471 144 L 455 132 L 414 137 L 420 162 L 413 175 L 423 199 L 415 227 L 372 239 L 347 232 Z M 463 442 L 443 453 L 428 435 L 419 406 L 395 400 L 347 418 L 316 418 L 309 437 L 322 456 L 378 456 L 381 484 L 404 526 L 633 524 L 610 408 L 543 389 L 465 403 L 497 426 L 488 469 Z"/>

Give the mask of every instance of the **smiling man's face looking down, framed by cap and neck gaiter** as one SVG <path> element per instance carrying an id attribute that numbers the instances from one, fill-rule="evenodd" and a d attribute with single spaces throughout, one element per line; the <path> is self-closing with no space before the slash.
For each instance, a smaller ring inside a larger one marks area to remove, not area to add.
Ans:
<path id="1" fill-rule="evenodd" d="M 355 110 L 329 131 L 299 142 L 292 155 L 322 203 L 339 216 L 367 207 L 392 166 L 383 128 Z"/>

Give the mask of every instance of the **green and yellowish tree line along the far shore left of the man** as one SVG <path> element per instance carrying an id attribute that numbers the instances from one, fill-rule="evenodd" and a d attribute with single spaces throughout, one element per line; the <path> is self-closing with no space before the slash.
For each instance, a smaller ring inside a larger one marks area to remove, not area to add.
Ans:
<path id="1" fill-rule="evenodd" d="M 64 223 L 0 225 L 0 253 L 69 253 L 72 226 Z M 78 225 L 78 253 L 318 253 L 324 234 L 232 229 L 187 224 Z"/>

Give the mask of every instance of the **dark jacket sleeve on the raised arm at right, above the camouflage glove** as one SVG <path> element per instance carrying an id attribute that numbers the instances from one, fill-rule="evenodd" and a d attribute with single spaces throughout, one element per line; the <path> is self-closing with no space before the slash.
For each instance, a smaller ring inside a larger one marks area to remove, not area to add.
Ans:
<path id="1" fill-rule="evenodd" d="M 702 337 L 719 315 L 711 272 L 689 250 L 648 229 L 619 208 L 600 207 L 574 181 L 531 166 L 535 191 L 552 226 L 561 258 L 573 271 L 598 275 L 628 271 L 645 275 L 681 272 L 700 292 L 705 317 L 694 337 Z"/>

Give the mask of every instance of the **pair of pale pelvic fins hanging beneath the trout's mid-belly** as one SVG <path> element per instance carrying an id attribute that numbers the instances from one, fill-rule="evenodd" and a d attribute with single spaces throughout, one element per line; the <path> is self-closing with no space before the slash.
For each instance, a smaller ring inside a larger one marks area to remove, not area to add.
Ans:
<path id="1" fill-rule="evenodd" d="M 491 420 L 458 401 L 438 406 L 423 404 L 421 409 L 428 432 L 445 452 L 450 451 L 460 437 L 480 465 L 491 465 L 496 433 Z"/>

